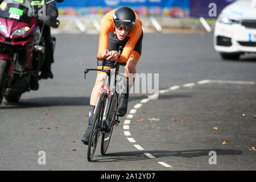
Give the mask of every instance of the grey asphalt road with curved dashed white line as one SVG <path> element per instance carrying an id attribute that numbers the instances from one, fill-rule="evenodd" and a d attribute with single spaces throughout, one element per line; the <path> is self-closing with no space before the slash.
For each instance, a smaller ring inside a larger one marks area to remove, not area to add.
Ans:
<path id="1" fill-rule="evenodd" d="M 208 33 L 145 34 L 137 72 L 159 73 L 159 97 L 130 94 L 107 155 L 98 144 L 88 162 L 98 35 L 55 36 L 53 80 L 0 107 L 0 170 L 256 169 L 256 55 L 221 60 Z"/>

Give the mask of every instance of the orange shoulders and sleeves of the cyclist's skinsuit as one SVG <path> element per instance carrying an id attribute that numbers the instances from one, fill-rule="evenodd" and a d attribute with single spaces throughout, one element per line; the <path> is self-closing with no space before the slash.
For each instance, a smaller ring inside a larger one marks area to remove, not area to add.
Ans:
<path id="1" fill-rule="evenodd" d="M 98 45 L 98 55 L 100 59 L 103 59 L 101 57 L 100 52 L 102 49 L 108 49 L 109 44 L 109 32 L 114 32 L 114 22 L 113 22 L 113 14 L 115 10 L 110 11 L 107 13 L 102 19 L 100 24 L 100 39 L 99 39 L 99 45 Z M 129 40 L 127 41 L 125 47 L 123 48 L 122 55 L 117 59 L 119 63 L 127 62 L 129 57 L 131 56 L 131 53 L 133 52 L 133 49 L 138 42 L 139 37 L 142 34 L 142 22 L 141 19 L 139 19 L 139 16 L 136 15 L 136 22 L 133 27 L 133 29 L 130 31 Z"/>

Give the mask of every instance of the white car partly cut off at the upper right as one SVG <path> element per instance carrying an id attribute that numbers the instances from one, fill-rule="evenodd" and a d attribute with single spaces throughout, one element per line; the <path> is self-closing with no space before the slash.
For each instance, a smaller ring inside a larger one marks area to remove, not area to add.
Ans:
<path id="1" fill-rule="evenodd" d="M 226 6 L 216 20 L 214 48 L 222 59 L 256 53 L 256 1 L 238 0 Z"/>

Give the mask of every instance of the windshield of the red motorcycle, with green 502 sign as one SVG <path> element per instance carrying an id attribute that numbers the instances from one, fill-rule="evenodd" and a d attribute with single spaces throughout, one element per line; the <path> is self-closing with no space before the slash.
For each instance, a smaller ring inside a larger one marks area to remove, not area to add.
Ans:
<path id="1" fill-rule="evenodd" d="M 44 2 L 44 0 L 4 0 L 0 5 L 0 17 L 30 23 L 30 18 L 37 16 L 36 11 L 43 8 Z"/>

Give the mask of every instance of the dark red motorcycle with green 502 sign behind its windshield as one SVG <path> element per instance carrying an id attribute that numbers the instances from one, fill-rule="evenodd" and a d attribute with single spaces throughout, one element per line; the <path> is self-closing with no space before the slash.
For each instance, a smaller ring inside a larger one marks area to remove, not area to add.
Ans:
<path id="1" fill-rule="evenodd" d="M 8 0 L 0 5 L 0 105 L 3 97 L 7 102 L 18 102 L 24 92 L 39 88 L 39 72 L 47 48 L 42 29 L 59 26 L 59 20 L 40 16 L 42 9 L 37 7 L 45 7 L 46 3 Z M 56 39 L 53 36 L 51 44 L 54 51 Z"/>

